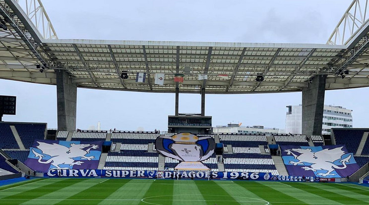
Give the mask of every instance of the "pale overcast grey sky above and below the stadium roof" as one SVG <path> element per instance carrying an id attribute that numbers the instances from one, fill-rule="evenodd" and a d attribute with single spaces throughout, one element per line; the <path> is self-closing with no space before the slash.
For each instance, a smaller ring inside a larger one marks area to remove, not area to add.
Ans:
<path id="1" fill-rule="evenodd" d="M 351 0 L 43 0 L 60 39 L 325 44 Z M 353 110 L 354 127 L 369 127 L 369 88 L 325 92 L 325 104 Z M 0 95 L 17 96 L 4 121 L 57 128 L 56 86 L 0 80 Z M 200 113 L 199 94 L 180 95 L 180 113 Z M 213 126 L 242 122 L 285 129 L 286 105 L 302 94 L 206 95 Z M 175 94 L 78 89 L 77 128 L 167 130 Z"/>

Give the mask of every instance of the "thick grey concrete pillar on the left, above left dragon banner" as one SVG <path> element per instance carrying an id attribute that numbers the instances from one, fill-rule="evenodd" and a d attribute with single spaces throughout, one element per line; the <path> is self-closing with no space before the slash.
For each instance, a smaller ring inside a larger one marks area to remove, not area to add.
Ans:
<path id="1" fill-rule="evenodd" d="M 58 130 L 75 131 L 77 85 L 72 83 L 65 70 L 57 73 Z"/>

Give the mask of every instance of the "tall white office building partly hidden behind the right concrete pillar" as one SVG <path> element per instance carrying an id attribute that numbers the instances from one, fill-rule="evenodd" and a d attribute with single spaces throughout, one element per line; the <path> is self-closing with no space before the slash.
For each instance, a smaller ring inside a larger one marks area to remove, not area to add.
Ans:
<path id="1" fill-rule="evenodd" d="M 286 132 L 302 134 L 302 105 L 287 106 Z M 322 134 L 330 134 L 331 128 L 352 127 L 352 110 L 342 106 L 324 105 Z"/>

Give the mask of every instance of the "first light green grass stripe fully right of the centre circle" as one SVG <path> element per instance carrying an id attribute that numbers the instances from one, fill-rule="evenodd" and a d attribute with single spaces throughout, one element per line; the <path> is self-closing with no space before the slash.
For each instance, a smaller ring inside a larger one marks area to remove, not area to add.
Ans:
<path id="1" fill-rule="evenodd" d="M 319 204 L 319 203 L 337 204 L 337 202 L 335 201 L 332 201 L 327 198 L 312 194 L 310 192 L 306 192 L 304 190 L 296 189 L 292 187 L 291 183 L 296 183 L 296 182 L 279 182 L 278 183 L 275 181 L 259 181 L 258 183 L 261 183 L 264 186 L 268 186 L 274 190 L 283 192 L 286 195 L 289 195 L 291 197 L 295 197 L 307 204 Z M 281 185 L 281 186 L 275 186 L 275 185 Z"/>

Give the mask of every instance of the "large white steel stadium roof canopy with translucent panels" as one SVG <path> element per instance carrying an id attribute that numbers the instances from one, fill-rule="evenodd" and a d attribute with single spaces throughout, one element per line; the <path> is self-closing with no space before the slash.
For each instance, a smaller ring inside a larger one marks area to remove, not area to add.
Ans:
<path id="1" fill-rule="evenodd" d="M 361 16 L 355 9 L 358 16 L 347 20 L 359 0 L 326 45 L 60 40 L 41 1 L 23 3 L 30 2 L 0 0 L 7 27 L 0 29 L 2 79 L 56 85 L 55 70 L 63 69 L 81 88 L 138 92 L 174 93 L 176 73 L 184 74 L 181 93 L 204 86 L 209 94 L 295 92 L 316 75 L 327 75 L 326 90 L 369 86 L 367 9 Z M 120 77 L 123 71 L 128 79 Z M 137 72 L 146 73 L 144 83 L 135 82 Z M 154 83 L 157 73 L 165 74 L 163 86 Z M 199 74 L 208 79 L 198 80 Z"/>

